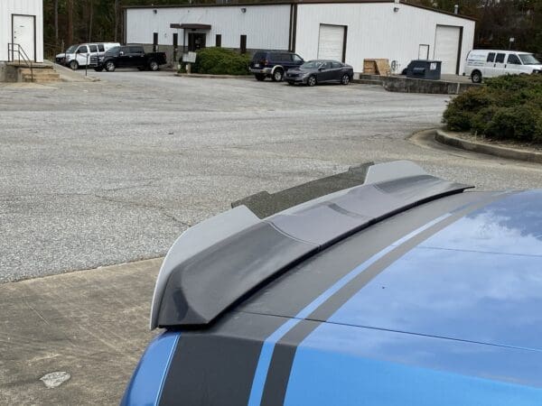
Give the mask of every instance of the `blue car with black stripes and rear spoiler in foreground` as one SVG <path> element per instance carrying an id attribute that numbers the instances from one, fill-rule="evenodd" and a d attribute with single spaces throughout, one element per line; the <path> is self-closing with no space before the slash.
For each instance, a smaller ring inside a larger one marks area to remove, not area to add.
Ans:
<path id="1" fill-rule="evenodd" d="M 395 161 L 259 193 L 174 243 L 151 328 L 122 404 L 541 405 L 542 190 Z"/>

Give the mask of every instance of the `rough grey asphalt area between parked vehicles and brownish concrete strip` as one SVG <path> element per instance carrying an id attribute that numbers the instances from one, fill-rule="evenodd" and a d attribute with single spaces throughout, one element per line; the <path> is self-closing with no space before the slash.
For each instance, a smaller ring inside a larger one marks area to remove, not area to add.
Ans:
<path id="1" fill-rule="evenodd" d="M 233 200 L 364 161 L 411 159 L 481 189 L 542 185 L 538 166 L 407 142 L 440 125 L 445 96 L 91 76 L 101 81 L 0 88 L 0 281 L 159 257 Z"/>

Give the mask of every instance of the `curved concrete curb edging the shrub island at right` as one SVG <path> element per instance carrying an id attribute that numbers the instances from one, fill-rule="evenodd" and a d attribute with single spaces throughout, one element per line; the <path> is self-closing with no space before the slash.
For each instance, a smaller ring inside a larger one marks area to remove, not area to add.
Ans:
<path id="1" fill-rule="evenodd" d="M 446 145 L 453 146 L 455 148 L 461 148 L 466 151 L 485 153 L 488 155 L 498 156 L 500 158 L 542 163 L 542 153 L 522 151 L 515 148 L 490 145 L 488 143 L 467 141 L 457 136 L 454 136 L 453 134 L 450 134 L 449 132 L 446 132 L 442 129 L 435 130 L 435 141 L 438 143 L 444 143 Z"/>

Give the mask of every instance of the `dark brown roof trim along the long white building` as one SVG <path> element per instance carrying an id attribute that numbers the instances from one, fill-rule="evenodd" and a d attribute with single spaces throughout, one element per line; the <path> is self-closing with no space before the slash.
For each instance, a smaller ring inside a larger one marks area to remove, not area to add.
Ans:
<path id="1" fill-rule="evenodd" d="M 125 5 L 124 9 L 141 9 L 141 8 L 191 8 L 191 7 L 245 7 L 249 5 L 322 5 L 322 4 L 371 4 L 371 3 L 395 3 L 394 0 L 290 0 L 290 1 L 277 1 L 269 2 L 264 1 L 261 3 L 255 2 L 239 2 L 239 3 L 225 3 L 225 4 L 196 4 L 196 5 Z M 463 15 L 463 14 L 454 14 L 452 12 L 446 12 L 444 10 L 438 10 L 433 7 L 428 7 L 425 5 L 416 5 L 410 3 L 406 0 L 399 0 L 401 5 L 410 5 L 412 7 L 421 8 L 427 11 L 431 11 L 439 14 L 446 14 L 452 17 L 463 18 L 464 20 L 478 21 L 476 18 Z"/>

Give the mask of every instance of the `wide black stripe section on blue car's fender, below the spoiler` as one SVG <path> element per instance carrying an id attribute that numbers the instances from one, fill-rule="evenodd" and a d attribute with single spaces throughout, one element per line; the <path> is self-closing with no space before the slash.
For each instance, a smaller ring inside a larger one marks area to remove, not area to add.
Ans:
<path id="1" fill-rule="evenodd" d="M 246 405 L 263 341 L 286 320 L 234 312 L 182 331 L 159 404 Z"/>

